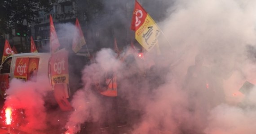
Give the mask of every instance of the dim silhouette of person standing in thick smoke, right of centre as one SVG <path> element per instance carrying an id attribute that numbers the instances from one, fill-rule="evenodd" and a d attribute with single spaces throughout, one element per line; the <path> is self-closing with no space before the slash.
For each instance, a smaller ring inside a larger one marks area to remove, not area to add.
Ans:
<path id="1" fill-rule="evenodd" d="M 195 64 L 188 68 L 184 89 L 188 92 L 188 110 L 191 114 L 187 126 L 191 134 L 201 134 L 207 124 L 207 113 L 210 109 L 211 99 L 209 90 L 209 70 L 203 66 L 203 55 L 195 57 Z M 200 120 L 201 119 L 201 120 Z"/>

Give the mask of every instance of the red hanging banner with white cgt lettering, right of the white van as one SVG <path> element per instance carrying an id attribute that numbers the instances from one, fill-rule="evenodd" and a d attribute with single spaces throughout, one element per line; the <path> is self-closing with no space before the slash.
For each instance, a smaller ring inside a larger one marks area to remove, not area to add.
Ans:
<path id="1" fill-rule="evenodd" d="M 59 50 L 52 54 L 50 59 L 51 83 L 68 84 L 68 51 L 65 49 Z"/>

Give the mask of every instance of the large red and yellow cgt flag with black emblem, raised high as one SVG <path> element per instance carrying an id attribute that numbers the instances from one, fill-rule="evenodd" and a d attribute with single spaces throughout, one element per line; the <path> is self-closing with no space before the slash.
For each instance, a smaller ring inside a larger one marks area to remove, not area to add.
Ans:
<path id="1" fill-rule="evenodd" d="M 131 29 L 135 31 L 136 40 L 147 51 L 158 44 L 160 29 L 137 0 L 135 0 Z"/>

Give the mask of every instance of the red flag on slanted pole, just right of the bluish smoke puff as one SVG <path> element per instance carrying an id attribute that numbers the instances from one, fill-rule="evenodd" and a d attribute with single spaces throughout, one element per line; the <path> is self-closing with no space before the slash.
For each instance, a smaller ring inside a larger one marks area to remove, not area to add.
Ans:
<path id="1" fill-rule="evenodd" d="M 72 50 L 77 53 L 82 46 L 84 46 L 86 44 L 85 39 L 84 39 L 84 34 L 82 32 L 82 29 L 80 27 L 79 21 L 76 18 L 75 21 L 75 28 L 77 29 L 75 32 L 75 36 L 73 39 L 73 45 L 72 45 Z"/>

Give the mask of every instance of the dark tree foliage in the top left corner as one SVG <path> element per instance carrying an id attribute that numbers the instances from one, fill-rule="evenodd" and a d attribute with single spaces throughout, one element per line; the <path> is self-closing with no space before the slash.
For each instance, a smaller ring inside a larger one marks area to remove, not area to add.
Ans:
<path id="1" fill-rule="evenodd" d="M 37 10 L 44 8 L 49 11 L 55 0 L 1 0 L 0 1 L 0 32 L 10 33 L 17 25 L 35 22 Z"/>

